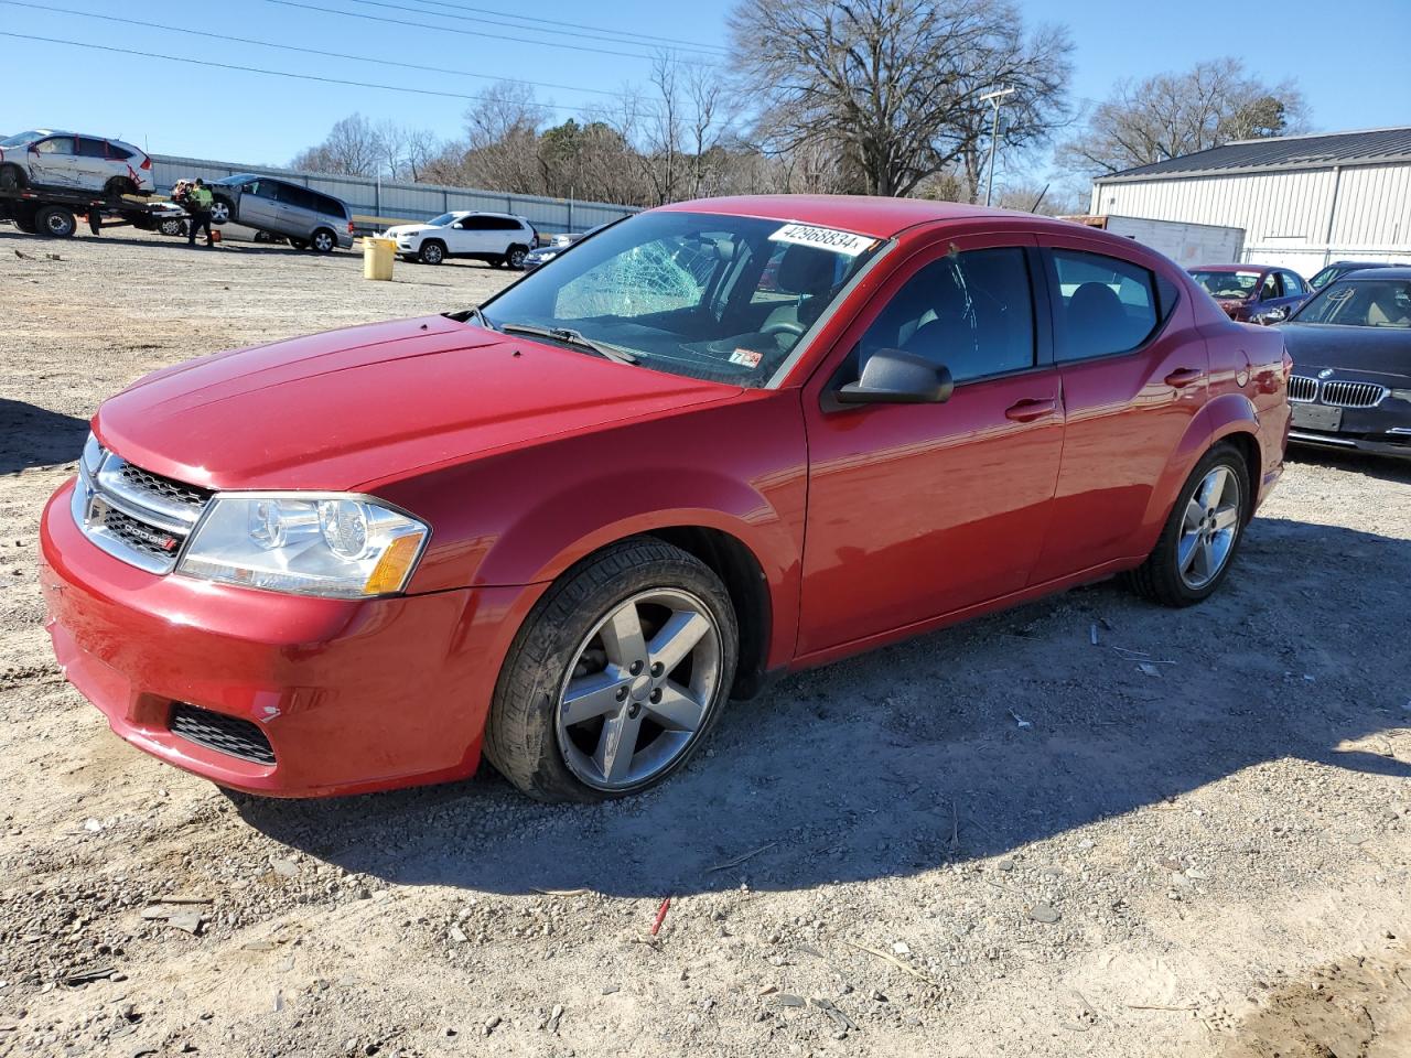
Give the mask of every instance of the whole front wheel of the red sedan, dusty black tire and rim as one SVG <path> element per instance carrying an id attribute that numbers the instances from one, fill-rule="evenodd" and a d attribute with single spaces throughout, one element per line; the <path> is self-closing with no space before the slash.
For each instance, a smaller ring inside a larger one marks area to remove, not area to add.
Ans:
<path id="1" fill-rule="evenodd" d="M 618 621 L 624 614 L 632 615 L 626 625 Z M 672 638 L 667 621 L 680 638 Z M 631 635 L 604 638 L 634 622 L 636 650 Z M 729 595 L 704 563 L 648 536 L 612 545 L 566 571 L 525 619 L 495 686 L 485 756 L 540 801 L 591 803 L 648 790 L 690 760 L 720 718 L 738 643 Z M 615 664 L 614 655 L 624 663 Z M 569 721 L 564 708 L 573 681 L 580 721 Z M 658 722 L 662 717 L 672 717 L 670 725 Z M 619 745 L 614 731 L 634 738 L 625 758 L 604 749 Z"/>

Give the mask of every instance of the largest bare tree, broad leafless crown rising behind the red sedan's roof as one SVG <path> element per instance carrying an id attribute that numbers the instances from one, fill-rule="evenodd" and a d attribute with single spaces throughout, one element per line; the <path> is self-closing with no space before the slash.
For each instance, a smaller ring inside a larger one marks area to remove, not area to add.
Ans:
<path id="1" fill-rule="evenodd" d="M 871 195 L 909 195 L 974 147 L 998 75 L 1033 85 L 1026 135 L 1062 111 L 1071 45 L 1029 42 L 1007 0 L 739 0 L 729 24 L 765 150 L 827 144 Z"/>

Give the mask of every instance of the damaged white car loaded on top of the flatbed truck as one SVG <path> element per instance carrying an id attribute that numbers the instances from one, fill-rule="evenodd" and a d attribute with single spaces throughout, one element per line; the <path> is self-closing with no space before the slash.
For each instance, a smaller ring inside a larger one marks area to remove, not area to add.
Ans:
<path id="1" fill-rule="evenodd" d="M 51 188 L 100 195 L 151 195 L 152 159 L 102 135 L 32 128 L 0 140 L 0 190 Z"/>

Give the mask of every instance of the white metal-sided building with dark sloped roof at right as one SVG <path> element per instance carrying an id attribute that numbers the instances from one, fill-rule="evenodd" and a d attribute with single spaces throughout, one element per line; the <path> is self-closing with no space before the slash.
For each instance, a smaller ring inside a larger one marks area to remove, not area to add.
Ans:
<path id="1" fill-rule="evenodd" d="M 1143 165 L 1095 181 L 1092 213 L 1239 227 L 1245 261 L 1305 276 L 1331 261 L 1411 264 L 1411 128 L 1242 140 Z"/>

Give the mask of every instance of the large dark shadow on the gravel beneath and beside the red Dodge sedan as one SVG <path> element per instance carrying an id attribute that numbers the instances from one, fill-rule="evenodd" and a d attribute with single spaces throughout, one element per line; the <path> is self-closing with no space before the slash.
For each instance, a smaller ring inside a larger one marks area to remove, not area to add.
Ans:
<path id="1" fill-rule="evenodd" d="M 231 797 L 265 834 L 404 884 L 659 897 L 996 856 L 1283 758 L 1411 777 L 1388 741 L 1407 722 L 1404 600 L 1364 591 L 1411 583 L 1411 543 L 1259 519 L 1233 574 L 1191 609 L 1109 581 L 790 677 L 634 800 L 540 805 L 488 767 L 343 800 Z M 1325 631 L 1316 656 L 1288 622 Z"/>

